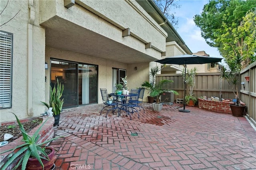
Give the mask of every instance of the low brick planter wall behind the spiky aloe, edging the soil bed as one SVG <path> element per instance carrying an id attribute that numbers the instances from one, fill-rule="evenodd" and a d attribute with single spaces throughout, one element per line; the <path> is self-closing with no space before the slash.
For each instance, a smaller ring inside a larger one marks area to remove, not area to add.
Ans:
<path id="1" fill-rule="evenodd" d="M 48 117 L 43 117 L 43 122 L 46 121 Z M 32 118 L 35 119 L 35 118 Z M 28 119 L 25 119 L 28 120 Z M 21 122 L 24 122 L 24 120 L 22 120 Z M 42 123 L 43 123 L 42 122 Z M 42 125 L 42 123 L 40 125 L 38 125 L 37 127 L 35 127 L 34 129 L 32 129 L 28 134 L 29 135 L 34 135 L 34 133 L 36 132 L 36 130 Z M 1 125 L 6 125 L 6 124 L 10 124 L 10 123 L 2 123 Z M 12 123 L 13 124 L 13 123 Z M 40 133 L 41 136 L 39 138 L 39 143 L 42 143 L 46 140 L 52 139 L 54 137 L 54 129 L 53 129 L 53 124 L 54 124 L 54 117 L 49 117 L 49 119 L 47 120 L 47 122 L 44 124 L 44 126 L 41 128 Z M 13 149 L 14 147 L 16 147 L 17 145 L 21 145 L 22 142 L 22 136 L 19 137 L 18 139 L 8 143 L 8 145 L 5 145 L 3 147 L 0 147 L 1 152 L 3 152 L 4 150 L 8 150 L 8 149 Z M 10 151 L 11 152 L 11 151 Z M 4 154 L 0 154 L 0 162 L 6 162 L 7 160 L 4 159 L 10 152 L 6 152 Z M 21 155 L 23 156 L 23 155 Z M 19 158 L 21 158 L 21 156 L 19 156 Z M 19 159 L 16 159 L 15 162 L 13 162 L 10 166 L 8 166 L 8 168 L 6 170 L 12 170 L 13 167 L 18 163 Z"/>

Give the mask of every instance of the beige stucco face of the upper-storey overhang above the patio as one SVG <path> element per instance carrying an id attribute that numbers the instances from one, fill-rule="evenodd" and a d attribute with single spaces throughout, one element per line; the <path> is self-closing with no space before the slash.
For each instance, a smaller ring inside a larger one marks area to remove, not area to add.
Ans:
<path id="1" fill-rule="evenodd" d="M 47 26 L 56 20 L 53 16 L 58 16 L 157 59 L 165 51 L 167 33 L 136 1 L 82 0 L 69 9 L 63 0 L 42 1 L 40 9 L 42 25 Z M 122 30 L 126 28 L 132 36 L 124 39 Z M 154 49 L 145 49 L 145 43 L 152 43 Z"/>

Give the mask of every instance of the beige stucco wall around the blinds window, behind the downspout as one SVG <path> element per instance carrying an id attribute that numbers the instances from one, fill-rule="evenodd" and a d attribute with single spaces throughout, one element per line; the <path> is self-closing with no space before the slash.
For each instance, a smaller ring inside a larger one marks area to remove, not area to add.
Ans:
<path id="1" fill-rule="evenodd" d="M 34 1 L 35 11 L 38 11 L 38 1 Z M 1 0 L 0 9 L 6 5 L 6 0 Z M 15 14 L 20 12 L 15 16 Z M 33 13 L 33 12 L 32 12 Z M 20 119 L 25 117 L 39 116 L 44 113 L 44 108 L 40 104 L 44 100 L 44 29 L 38 25 L 38 13 L 35 12 L 35 21 L 32 26 L 32 41 L 28 43 L 28 21 L 29 21 L 28 1 L 12 0 L 4 12 L 1 14 L 0 23 L 8 21 L 13 16 L 14 19 L 1 27 L 2 31 L 13 33 L 13 65 L 12 65 L 12 107 L 0 109 L 0 121 L 11 121 L 15 117 L 10 113 L 15 113 Z M 30 44 L 30 45 L 28 45 Z M 32 45 L 33 44 L 33 45 Z M 32 51 L 32 76 L 28 78 L 28 49 Z M 32 88 L 28 89 L 28 82 L 32 81 Z M 30 111 L 28 115 L 28 90 L 32 93 Z"/>

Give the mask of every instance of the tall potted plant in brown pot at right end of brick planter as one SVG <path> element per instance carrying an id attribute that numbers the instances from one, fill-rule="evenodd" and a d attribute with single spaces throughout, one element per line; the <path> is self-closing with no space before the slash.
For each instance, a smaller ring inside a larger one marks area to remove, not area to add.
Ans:
<path id="1" fill-rule="evenodd" d="M 242 61 L 243 57 L 240 54 L 236 54 L 236 56 L 230 60 L 228 60 L 226 65 L 220 65 L 220 78 L 226 80 L 228 86 L 232 89 L 234 93 L 234 104 L 230 104 L 230 108 L 232 111 L 233 116 L 240 116 L 244 115 L 244 109 L 246 106 L 242 106 L 240 104 L 239 93 L 238 93 L 238 82 L 239 78 L 236 76 L 237 73 L 242 68 Z"/>

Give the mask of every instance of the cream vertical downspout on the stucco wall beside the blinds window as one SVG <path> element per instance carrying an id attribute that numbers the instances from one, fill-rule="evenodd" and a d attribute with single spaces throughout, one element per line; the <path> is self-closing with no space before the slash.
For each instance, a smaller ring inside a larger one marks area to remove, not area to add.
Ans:
<path id="1" fill-rule="evenodd" d="M 27 114 L 33 116 L 33 23 L 35 21 L 34 0 L 28 0 L 30 17 L 28 20 L 28 60 L 27 60 Z"/>

